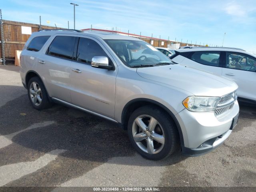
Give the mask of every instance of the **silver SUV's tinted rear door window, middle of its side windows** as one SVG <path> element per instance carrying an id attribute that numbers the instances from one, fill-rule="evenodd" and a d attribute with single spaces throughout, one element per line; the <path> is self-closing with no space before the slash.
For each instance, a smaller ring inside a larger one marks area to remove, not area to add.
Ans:
<path id="1" fill-rule="evenodd" d="M 48 48 L 48 54 L 66 59 L 73 58 L 76 37 L 56 36 Z"/>

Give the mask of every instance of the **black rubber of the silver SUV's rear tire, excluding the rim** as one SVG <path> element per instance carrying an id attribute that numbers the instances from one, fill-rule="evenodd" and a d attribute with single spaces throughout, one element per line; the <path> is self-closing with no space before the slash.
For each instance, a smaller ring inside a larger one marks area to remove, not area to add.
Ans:
<path id="1" fill-rule="evenodd" d="M 40 87 L 40 90 L 41 90 L 41 98 L 42 98 L 42 101 L 37 103 L 37 104 L 34 104 L 34 102 L 32 101 L 32 98 L 30 96 L 30 86 L 32 86 L 32 83 L 33 82 L 36 82 L 36 84 Z M 46 89 L 44 87 L 44 84 L 42 83 L 42 81 L 40 80 L 39 77 L 32 77 L 29 81 L 28 81 L 28 86 L 27 86 L 27 89 L 28 89 L 28 99 L 30 100 L 30 103 L 32 104 L 32 106 L 37 109 L 37 110 L 42 110 L 42 109 L 47 109 L 47 108 L 50 108 L 52 106 L 52 103 L 49 101 L 48 99 L 48 94 L 46 92 Z"/>

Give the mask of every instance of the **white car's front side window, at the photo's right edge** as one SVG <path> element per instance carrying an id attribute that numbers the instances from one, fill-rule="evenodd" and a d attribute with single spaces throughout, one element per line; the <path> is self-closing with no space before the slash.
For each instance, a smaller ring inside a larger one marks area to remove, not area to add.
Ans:
<path id="1" fill-rule="evenodd" d="M 227 52 L 226 68 L 256 71 L 256 58 L 245 54 Z"/>

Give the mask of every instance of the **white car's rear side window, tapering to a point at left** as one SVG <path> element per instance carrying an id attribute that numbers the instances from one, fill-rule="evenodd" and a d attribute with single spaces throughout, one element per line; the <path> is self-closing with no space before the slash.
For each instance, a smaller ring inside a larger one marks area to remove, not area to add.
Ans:
<path id="1" fill-rule="evenodd" d="M 204 65 L 219 66 L 220 52 L 194 52 L 191 60 Z"/>

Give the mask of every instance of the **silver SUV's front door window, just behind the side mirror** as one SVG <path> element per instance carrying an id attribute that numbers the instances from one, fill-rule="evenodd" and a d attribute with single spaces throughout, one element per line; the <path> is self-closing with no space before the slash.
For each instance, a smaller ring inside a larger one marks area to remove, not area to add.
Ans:
<path id="1" fill-rule="evenodd" d="M 106 56 L 106 52 L 94 40 L 88 38 L 80 38 L 77 50 L 77 61 L 91 64 L 92 58 L 95 56 Z"/>

